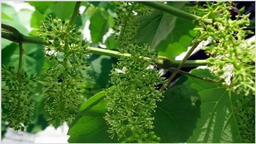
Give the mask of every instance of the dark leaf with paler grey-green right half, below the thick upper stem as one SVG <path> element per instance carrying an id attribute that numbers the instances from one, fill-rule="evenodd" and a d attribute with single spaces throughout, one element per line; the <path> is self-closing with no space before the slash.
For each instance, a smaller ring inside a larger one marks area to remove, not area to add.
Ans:
<path id="1" fill-rule="evenodd" d="M 172 6 L 182 9 L 186 2 L 173 2 Z M 137 44 L 148 43 L 155 48 L 162 40 L 173 31 L 177 17 L 171 14 L 156 11 L 149 16 L 141 16 L 137 22 L 141 22 L 134 40 Z"/>

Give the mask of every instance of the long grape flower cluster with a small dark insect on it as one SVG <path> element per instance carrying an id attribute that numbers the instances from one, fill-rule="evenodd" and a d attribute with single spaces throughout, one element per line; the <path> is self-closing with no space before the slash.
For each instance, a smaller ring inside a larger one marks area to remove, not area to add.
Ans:
<path id="1" fill-rule="evenodd" d="M 57 121 L 62 124 L 72 121 L 81 103 L 80 85 L 85 82 L 85 77 L 80 71 L 87 69 L 88 43 L 81 40 L 79 27 L 70 27 L 68 21 L 50 17 L 41 23 L 39 37 L 49 43 L 45 46 L 45 57 L 56 63 L 53 67 L 45 69 L 45 109 L 52 124 Z"/>

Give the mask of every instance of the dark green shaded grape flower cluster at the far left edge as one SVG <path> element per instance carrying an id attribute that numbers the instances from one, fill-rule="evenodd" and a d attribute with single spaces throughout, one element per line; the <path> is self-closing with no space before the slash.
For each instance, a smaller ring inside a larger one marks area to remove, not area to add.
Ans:
<path id="1" fill-rule="evenodd" d="M 2 119 L 14 130 L 24 131 L 24 126 L 33 120 L 35 109 L 34 92 L 37 88 L 37 76 L 30 76 L 20 69 L 2 66 Z"/>

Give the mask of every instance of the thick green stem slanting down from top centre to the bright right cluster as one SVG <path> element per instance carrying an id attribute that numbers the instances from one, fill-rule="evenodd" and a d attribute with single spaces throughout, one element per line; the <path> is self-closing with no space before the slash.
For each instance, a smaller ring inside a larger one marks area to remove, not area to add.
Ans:
<path id="1" fill-rule="evenodd" d="M 185 11 L 182 11 L 180 9 L 177 9 L 175 7 L 171 7 L 169 5 L 163 4 L 162 2 L 152 2 L 152 1 L 138 1 L 137 3 L 146 5 L 148 7 L 152 7 L 154 9 L 157 9 L 159 11 L 171 14 L 173 16 L 177 16 L 178 18 L 182 18 L 183 20 L 186 20 L 187 22 L 198 24 L 198 20 L 204 22 L 206 25 L 211 24 L 211 19 L 202 19 L 200 16 L 196 16 L 191 13 L 187 13 Z"/>

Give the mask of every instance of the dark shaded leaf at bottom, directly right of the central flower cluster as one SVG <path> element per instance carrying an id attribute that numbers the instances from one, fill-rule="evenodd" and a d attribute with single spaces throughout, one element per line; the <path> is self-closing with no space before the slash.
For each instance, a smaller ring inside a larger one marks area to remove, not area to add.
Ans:
<path id="1" fill-rule="evenodd" d="M 190 87 L 186 77 L 165 92 L 154 113 L 154 131 L 161 143 L 186 142 L 196 127 L 200 116 L 200 100 L 197 91 Z"/>

